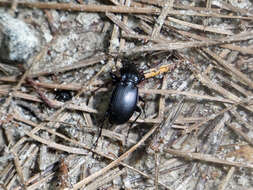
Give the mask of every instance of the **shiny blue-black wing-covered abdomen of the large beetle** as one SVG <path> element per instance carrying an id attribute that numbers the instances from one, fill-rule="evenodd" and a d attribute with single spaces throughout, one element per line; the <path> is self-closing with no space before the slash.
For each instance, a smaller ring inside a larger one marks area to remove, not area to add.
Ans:
<path id="1" fill-rule="evenodd" d="M 109 122 L 114 124 L 127 122 L 136 110 L 137 100 L 137 87 L 118 83 L 112 93 Z"/>

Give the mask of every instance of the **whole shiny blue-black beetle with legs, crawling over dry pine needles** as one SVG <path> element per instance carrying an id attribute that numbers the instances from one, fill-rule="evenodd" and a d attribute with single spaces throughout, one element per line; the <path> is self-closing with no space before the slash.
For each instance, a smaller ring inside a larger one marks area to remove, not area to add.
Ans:
<path id="1" fill-rule="evenodd" d="M 109 107 L 102 121 L 102 125 L 99 128 L 99 134 L 95 142 L 95 147 L 99 137 L 101 136 L 103 122 L 106 118 L 108 118 L 111 124 L 119 125 L 126 123 L 134 112 L 137 111 L 139 112 L 139 115 L 132 123 L 134 124 L 141 115 L 141 109 L 137 106 L 139 100 L 137 85 L 144 80 L 144 75 L 137 70 L 136 65 L 133 63 L 127 63 L 120 69 L 120 77 L 113 73 L 110 73 L 110 75 L 115 87 L 112 92 Z M 129 128 L 131 128 L 131 126 Z"/>

